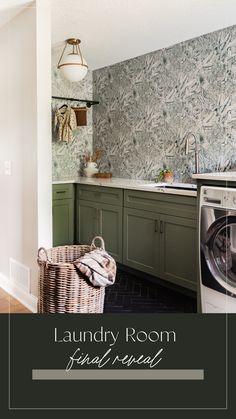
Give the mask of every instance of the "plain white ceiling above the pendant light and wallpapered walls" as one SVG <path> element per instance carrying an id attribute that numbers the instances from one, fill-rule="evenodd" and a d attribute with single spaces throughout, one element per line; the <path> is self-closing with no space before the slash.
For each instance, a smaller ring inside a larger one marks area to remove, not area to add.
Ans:
<path id="1" fill-rule="evenodd" d="M 39 0 L 40 1 L 40 0 Z M 236 24 L 235 0 L 50 0 L 52 45 L 80 38 L 90 69 Z M 0 26 L 31 1 L 0 0 Z"/>

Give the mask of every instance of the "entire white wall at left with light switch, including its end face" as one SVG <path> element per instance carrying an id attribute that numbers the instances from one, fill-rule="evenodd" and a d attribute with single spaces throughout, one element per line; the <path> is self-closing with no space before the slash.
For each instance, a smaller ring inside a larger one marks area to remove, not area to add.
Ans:
<path id="1" fill-rule="evenodd" d="M 9 258 L 17 260 L 30 268 L 37 295 L 37 249 L 52 237 L 48 0 L 0 29 L 0 53 L 0 276 L 9 280 Z"/>

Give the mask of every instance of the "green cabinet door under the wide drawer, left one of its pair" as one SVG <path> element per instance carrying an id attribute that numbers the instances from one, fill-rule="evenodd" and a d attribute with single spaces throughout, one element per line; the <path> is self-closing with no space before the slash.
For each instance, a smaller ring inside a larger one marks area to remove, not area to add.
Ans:
<path id="1" fill-rule="evenodd" d="M 100 211 L 98 205 L 89 201 L 77 201 L 76 243 L 91 244 L 94 236 L 99 236 Z"/>

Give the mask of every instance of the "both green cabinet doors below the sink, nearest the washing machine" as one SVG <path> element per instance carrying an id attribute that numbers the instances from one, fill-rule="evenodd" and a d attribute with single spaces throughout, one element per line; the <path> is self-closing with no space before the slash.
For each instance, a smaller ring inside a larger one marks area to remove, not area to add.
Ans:
<path id="1" fill-rule="evenodd" d="M 196 221 L 124 209 L 123 264 L 196 290 Z"/>

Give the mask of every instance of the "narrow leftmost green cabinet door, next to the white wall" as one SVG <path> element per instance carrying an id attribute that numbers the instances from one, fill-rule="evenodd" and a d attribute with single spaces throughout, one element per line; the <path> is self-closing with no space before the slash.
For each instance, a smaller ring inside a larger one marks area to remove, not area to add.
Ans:
<path id="1" fill-rule="evenodd" d="M 74 200 L 53 200 L 53 246 L 74 243 Z"/>

